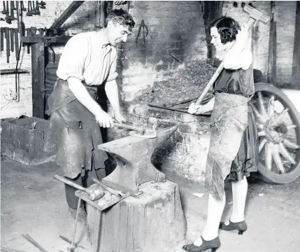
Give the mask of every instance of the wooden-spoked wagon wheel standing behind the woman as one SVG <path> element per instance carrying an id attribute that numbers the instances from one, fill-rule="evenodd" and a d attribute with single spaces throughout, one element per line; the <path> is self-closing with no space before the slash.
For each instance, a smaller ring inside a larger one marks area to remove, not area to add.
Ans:
<path id="1" fill-rule="evenodd" d="M 290 183 L 300 176 L 300 116 L 278 88 L 255 84 L 250 104 L 259 136 L 258 171 L 267 183 Z"/>

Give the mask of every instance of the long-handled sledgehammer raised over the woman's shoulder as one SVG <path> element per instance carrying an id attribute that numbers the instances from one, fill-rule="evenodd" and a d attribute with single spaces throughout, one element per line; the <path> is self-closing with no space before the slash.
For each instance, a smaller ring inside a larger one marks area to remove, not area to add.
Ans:
<path id="1" fill-rule="evenodd" d="M 265 24 L 267 22 L 269 22 L 269 17 L 267 15 L 264 15 L 264 13 L 261 13 L 259 10 L 251 7 L 248 4 L 245 4 L 243 10 L 250 15 L 250 18 L 249 18 L 249 20 L 247 22 L 247 26 L 248 27 L 252 27 L 252 25 L 254 23 L 254 22 L 252 22 L 252 20 L 262 21 Z M 206 96 L 206 94 L 210 90 L 210 87 L 213 86 L 213 83 L 215 83 L 215 80 L 217 80 L 217 77 L 220 75 L 220 73 L 222 72 L 223 69 L 224 69 L 224 63 L 221 62 L 220 66 L 217 67 L 217 70 L 215 71 L 215 73 L 213 73 L 213 77 L 210 78 L 210 80 L 208 81 L 208 84 L 206 85 L 206 87 L 204 88 L 204 90 L 201 92 L 199 98 L 195 102 L 195 105 L 201 104 L 201 102 L 203 101 L 204 97 Z M 189 110 L 189 112 L 190 112 L 190 110 Z M 194 112 L 194 111 L 191 111 L 191 112 Z"/>

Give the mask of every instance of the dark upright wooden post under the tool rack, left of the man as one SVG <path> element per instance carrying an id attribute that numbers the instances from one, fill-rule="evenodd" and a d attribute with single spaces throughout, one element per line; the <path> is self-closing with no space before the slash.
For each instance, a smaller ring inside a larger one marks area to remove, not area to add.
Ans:
<path id="1" fill-rule="evenodd" d="M 33 116 L 45 115 L 45 44 L 31 44 L 31 76 Z"/>

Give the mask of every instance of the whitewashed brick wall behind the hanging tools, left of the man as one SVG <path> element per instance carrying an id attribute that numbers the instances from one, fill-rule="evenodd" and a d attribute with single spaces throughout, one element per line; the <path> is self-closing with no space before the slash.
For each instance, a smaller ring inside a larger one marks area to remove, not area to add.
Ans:
<path id="1" fill-rule="evenodd" d="M 40 9 L 41 15 L 28 17 L 23 12 L 23 22 L 25 27 L 49 28 L 56 18 L 61 15 L 72 1 L 45 1 L 46 8 Z M 28 1 L 24 1 L 24 7 L 27 8 Z M 3 1 L 0 1 L 2 8 Z M 68 34 L 78 33 L 85 29 L 93 29 L 96 24 L 97 1 L 85 1 L 78 10 L 64 23 L 62 27 L 68 30 Z M 16 16 L 16 12 L 15 12 Z M 5 15 L 0 13 L 1 18 Z M 17 28 L 17 22 L 13 21 L 8 25 L 1 21 L 1 27 Z M 54 48 L 56 53 L 62 52 L 62 47 Z M 10 62 L 6 63 L 6 40 L 4 39 L 4 50 L 1 52 L 1 69 L 15 69 L 15 52 L 10 52 Z M 20 73 L 18 77 L 19 95 L 15 96 L 15 74 L 1 75 L 1 118 L 21 115 L 32 116 L 32 90 L 31 90 L 31 54 L 27 54 L 27 47 L 21 49 L 19 68 L 29 71 L 29 73 Z"/>

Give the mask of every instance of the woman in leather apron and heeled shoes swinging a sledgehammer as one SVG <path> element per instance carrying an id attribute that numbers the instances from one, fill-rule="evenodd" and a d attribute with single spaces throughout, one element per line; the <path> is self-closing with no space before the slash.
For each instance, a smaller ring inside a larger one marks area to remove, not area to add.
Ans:
<path id="1" fill-rule="evenodd" d="M 222 17 L 210 25 L 211 43 L 224 52 L 224 69 L 214 85 L 215 97 L 207 104 L 191 104 L 189 112 L 213 111 L 211 139 L 206 163 L 205 186 L 208 190 L 208 216 L 199 239 L 183 246 L 186 251 L 201 252 L 220 247 L 218 230 L 247 230 L 245 200 L 246 177 L 257 171 L 257 132 L 248 102 L 254 94 L 252 53 L 245 49 L 248 27 L 232 18 Z M 226 223 L 220 223 L 225 206 L 224 179 L 232 181 L 233 211 Z"/>

